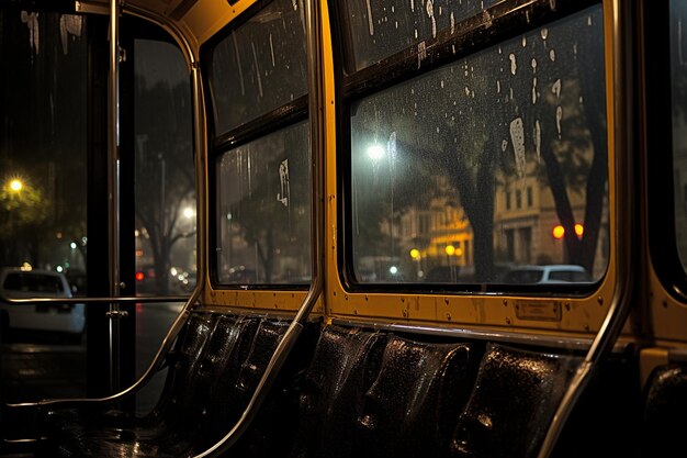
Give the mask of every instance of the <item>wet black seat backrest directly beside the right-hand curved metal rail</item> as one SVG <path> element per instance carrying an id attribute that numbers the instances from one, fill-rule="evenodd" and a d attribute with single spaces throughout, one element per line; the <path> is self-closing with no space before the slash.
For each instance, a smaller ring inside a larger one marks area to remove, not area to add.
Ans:
<path id="1" fill-rule="evenodd" d="M 487 344 L 452 456 L 533 457 L 581 362 L 579 356 Z"/>

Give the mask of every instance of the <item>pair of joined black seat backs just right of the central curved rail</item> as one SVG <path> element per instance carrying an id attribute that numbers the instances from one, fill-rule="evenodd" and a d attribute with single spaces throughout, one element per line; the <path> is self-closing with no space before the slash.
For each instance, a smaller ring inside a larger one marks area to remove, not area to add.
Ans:
<path id="1" fill-rule="evenodd" d="M 327 326 L 306 372 L 291 455 L 448 456 L 472 387 L 471 358 L 466 344 Z"/>

